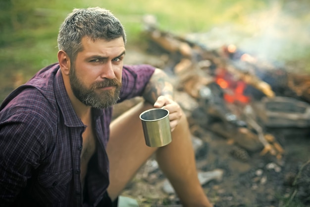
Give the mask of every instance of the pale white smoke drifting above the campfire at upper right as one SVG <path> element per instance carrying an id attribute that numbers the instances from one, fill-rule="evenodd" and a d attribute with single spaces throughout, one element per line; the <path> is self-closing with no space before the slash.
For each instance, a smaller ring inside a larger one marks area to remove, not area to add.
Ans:
<path id="1" fill-rule="evenodd" d="M 310 2 L 270 1 L 267 8 L 245 16 L 240 24 L 214 27 L 188 39 L 216 49 L 234 44 L 238 49 L 271 61 L 310 60 Z"/>

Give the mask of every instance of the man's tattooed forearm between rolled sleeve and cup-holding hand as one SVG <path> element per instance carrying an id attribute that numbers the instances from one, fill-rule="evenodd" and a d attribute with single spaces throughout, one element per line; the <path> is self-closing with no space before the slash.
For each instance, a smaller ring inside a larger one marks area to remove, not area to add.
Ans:
<path id="1" fill-rule="evenodd" d="M 173 99 L 173 85 L 164 71 L 155 69 L 150 82 L 145 87 L 143 98 L 154 104 L 159 96 Z"/>

